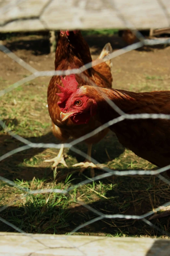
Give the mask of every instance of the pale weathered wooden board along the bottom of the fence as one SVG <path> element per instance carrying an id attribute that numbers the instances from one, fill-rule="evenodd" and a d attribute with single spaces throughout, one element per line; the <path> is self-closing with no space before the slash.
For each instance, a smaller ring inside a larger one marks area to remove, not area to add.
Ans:
<path id="1" fill-rule="evenodd" d="M 168 256 L 170 240 L 0 233 L 2 256 Z"/>

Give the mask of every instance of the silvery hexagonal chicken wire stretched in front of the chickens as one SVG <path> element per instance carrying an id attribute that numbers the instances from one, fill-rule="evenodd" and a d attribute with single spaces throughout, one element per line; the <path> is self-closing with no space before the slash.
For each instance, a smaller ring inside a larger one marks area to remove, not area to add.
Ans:
<path id="1" fill-rule="evenodd" d="M 126 26 L 128 25 L 128 23 L 125 21 Z M 129 26 L 128 26 L 129 27 Z M 53 75 L 57 75 L 57 76 L 61 76 L 61 75 L 70 75 L 70 74 L 78 74 L 79 76 L 81 76 L 82 78 L 85 76 L 82 72 L 87 70 L 88 68 L 91 68 L 92 66 L 95 66 L 101 62 L 104 62 L 106 60 L 111 60 L 119 55 L 122 55 L 124 53 L 127 53 L 129 51 L 132 51 L 134 49 L 137 49 L 139 47 L 142 47 L 144 45 L 156 45 L 156 44 L 169 44 L 170 43 L 170 39 L 162 39 L 162 41 L 160 42 L 160 40 L 156 40 L 156 39 L 146 39 L 144 38 L 139 31 L 135 30 L 134 27 L 130 26 L 130 29 L 133 29 L 133 33 L 135 33 L 135 35 L 138 37 L 139 42 L 138 43 L 134 43 L 132 45 L 126 46 L 120 50 L 114 51 L 111 54 L 107 55 L 105 58 L 103 59 L 97 59 L 94 60 L 78 69 L 71 69 L 71 70 L 59 70 L 59 71 L 38 71 L 35 68 L 33 68 L 32 66 L 30 66 L 28 63 L 24 62 L 22 59 L 20 59 L 19 57 L 17 57 L 14 53 L 12 53 L 6 46 L 4 46 L 3 44 L 0 45 L 0 50 L 2 52 L 4 52 L 5 54 L 7 54 L 8 57 L 10 57 L 12 60 L 16 61 L 17 63 L 19 63 L 22 67 L 24 67 L 26 70 L 28 70 L 29 72 L 31 72 L 32 74 L 28 77 L 25 77 L 21 80 L 19 80 L 18 82 L 14 83 L 13 85 L 7 87 L 6 89 L 0 91 L 0 96 L 2 97 L 3 95 L 7 94 L 8 92 L 12 91 L 13 89 L 23 85 L 24 83 L 31 81 L 37 77 L 42 77 L 42 76 L 53 76 Z M 88 79 L 88 77 L 86 77 L 86 79 Z M 91 82 L 91 81 L 90 81 Z M 94 85 L 94 84 L 93 84 Z M 75 139 L 74 141 L 70 142 L 70 143 L 65 143 L 64 144 L 64 148 L 69 148 L 71 151 L 79 154 L 80 156 L 87 158 L 88 160 L 92 161 L 94 164 L 99 164 L 99 162 L 97 162 L 95 159 L 90 158 L 86 153 L 82 152 L 81 150 L 77 149 L 75 147 L 76 144 L 84 141 L 87 138 L 90 138 L 91 136 L 95 135 L 96 133 L 100 132 L 101 130 L 110 127 L 113 124 L 116 124 L 124 119 L 130 119 L 130 120 L 134 120 L 134 119 L 170 119 L 170 115 L 167 114 L 126 114 L 123 111 L 121 111 L 113 102 L 107 100 L 108 104 L 111 105 L 111 107 L 113 108 L 114 111 L 119 113 L 119 117 L 115 118 L 109 122 L 107 122 L 106 124 L 100 126 L 99 128 L 93 130 L 92 132 L 86 134 L 85 136 L 82 136 L 78 139 Z M 14 132 L 10 131 L 6 124 L 0 120 L 0 125 L 2 128 L 6 129 L 6 131 L 15 139 L 19 140 L 20 142 L 22 142 L 24 145 L 21 147 L 18 147 L 14 150 L 9 151 L 8 153 L 2 155 L 0 157 L 0 161 L 12 156 L 13 154 L 16 154 L 18 152 L 30 149 L 30 148 L 56 148 L 56 149 L 60 149 L 61 146 L 63 144 L 54 144 L 54 143 L 32 143 L 31 141 L 21 137 L 18 134 L 15 134 Z M 41 194 L 41 193 L 61 193 L 64 195 L 67 195 L 68 192 L 74 190 L 75 188 L 78 188 L 80 186 L 83 186 L 87 183 L 91 183 L 93 181 L 97 181 L 97 180 L 101 180 L 104 178 L 108 178 L 111 177 L 113 175 L 116 176 L 126 176 L 126 175 L 157 175 L 157 177 L 159 179 L 161 179 L 163 182 L 167 183 L 168 185 L 170 185 L 170 181 L 166 178 L 164 178 L 161 173 L 165 172 L 166 170 L 169 170 L 170 165 L 165 166 L 163 168 L 159 168 L 157 170 L 128 170 L 128 171 L 118 171 L 118 170 L 112 170 L 109 169 L 105 166 L 101 166 L 101 169 L 103 171 L 105 171 L 104 174 L 95 176 L 94 178 L 91 179 L 86 179 L 82 182 L 79 182 L 76 185 L 72 185 L 71 187 L 69 187 L 68 189 L 40 189 L 40 190 L 30 190 L 28 188 L 22 187 L 18 184 L 16 184 L 15 182 L 6 179 L 4 177 L 0 176 L 0 180 L 2 180 L 3 182 L 6 182 L 7 184 L 17 187 L 18 189 L 22 190 L 24 194 L 22 194 L 21 196 L 17 197 L 18 199 L 21 199 L 25 196 L 28 195 L 33 195 L 33 194 Z M 15 200 L 13 200 L 12 202 L 10 202 L 7 205 L 4 205 L 3 207 L 0 208 L 0 212 L 4 211 L 5 209 L 7 209 L 7 207 L 13 205 L 16 202 L 16 198 Z M 87 208 L 88 210 L 92 211 L 94 214 L 97 215 L 96 218 L 91 219 L 90 221 L 87 221 L 81 225 L 79 225 L 78 227 L 75 227 L 74 230 L 72 230 L 72 232 L 70 232 L 70 234 L 73 234 L 74 232 L 77 232 L 78 230 L 80 230 L 81 228 L 90 225 L 98 220 L 104 219 L 104 218 L 123 218 L 123 219 L 136 219 L 136 220 L 142 220 L 143 222 L 145 222 L 146 224 L 148 224 L 149 226 L 155 228 L 156 230 L 159 230 L 160 232 L 162 232 L 162 234 L 168 235 L 169 234 L 166 231 L 163 231 L 162 229 L 160 229 L 159 227 L 157 227 L 156 225 L 154 225 L 153 223 L 151 223 L 149 220 L 147 220 L 146 218 L 150 215 L 152 215 L 153 213 L 159 211 L 161 209 L 161 207 L 165 207 L 165 206 L 169 206 L 170 205 L 170 201 L 161 205 L 160 207 L 149 211 L 148 213 L 142 214 L 142 215 L 126 215 L 126 214 L 104 214 L 101 213 L 100 211 L 97 211 L 96 209 L 92 208 L 91 206 L 82 203 L 82 202 L 78 202 L 79 204 L 82 204 L 85 208 Z M 21 233 L 25 233 L 23 230 L 21 230 L 20 228 L 18 228 L 17 226 L 13 225 L 12 223 L 8 222 L 7 220 L 3 219 L 2 217 L 0 217 L 0 221 L 7 224 L 8 226 L 12 227 L 14 230 L 17 230 L 18 232 Z M 26 235 L 26 233 L 25 233 Z M 28 234 L 27 234 L 28 235 Z"/>

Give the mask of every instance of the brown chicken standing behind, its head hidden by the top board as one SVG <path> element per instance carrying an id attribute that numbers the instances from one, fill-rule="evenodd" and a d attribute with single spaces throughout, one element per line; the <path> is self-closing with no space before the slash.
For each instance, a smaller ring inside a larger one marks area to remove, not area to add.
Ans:
<path id="1" fill-rule="evenodd" d="M 99 59 L 102 59 L 111 52 L 112 47 L 110 43 L 107 43 L 103 48 Z M 91 61 L 92 57 L 90 54 L 89 46 L 82 37 L 80 31 L 76 30 L 58 32 L 58 41 L 55 54 L 55 70 L 80 68 L 84 64 L 87 64 Z M 111 88 L 112 75 L 110 69 L 111 61 L 107 60 L 106 62 L 100 63 L 84 71 L 83 73 L 88 79 L 85 79 L 84 77 L 82 79 L 76 75 L 78 87 L 94 82 L 97 86 Z M 62 142 L 65 142 L 70 137 L 79 138 L 98 128 L 101 125 L 101 122 L 93 119 L 91 119 L 88 124 L 80 124 L 79 126 L 75 125 L 70 119 L 62 122 L 60 117 L 61 111 L 57 105 L 59 96 L 56 95 L 56 93 L 59 93 L 60 90 L 56 86 L 56 83 L 62 85 L 60 76 L 53 76 L 48 87 L 48 110 L 52 120 L 52 130 L 54 136 L 60 139 Z M 69 88 L 67 89 L 69 91 Z M 100 133 L 94 135 L 92 138 L 85 140 L 85 142 L 88 144 L 87 154 L 89 156 L 91 156 L 92 144 L 99 142 L 106 135 L 108 130 L 109 129 L 106 128 Z M 57 166 L 59 163 L 67 166 L 64 161 L 63 147 L 61 147 L 57 157 L 50 160 L 45 160 L 45 162 L 54 162 L 52 167 Z M 89 166 L 92 168 L 96 167 L 96 165 L 90 161 L 81 162 L 75 164 L 74 166 L 82 166 L 80 172 Z M 94 176 L 93 170 L 91 175 Z"/>

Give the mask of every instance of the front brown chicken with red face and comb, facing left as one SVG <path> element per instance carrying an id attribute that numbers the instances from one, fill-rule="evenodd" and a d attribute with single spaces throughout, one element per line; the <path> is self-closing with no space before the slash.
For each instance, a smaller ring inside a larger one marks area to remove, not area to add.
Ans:
<path id="1" fill-rule="evenodd" d="M 64 79 L 65 89 L 69 79 Z M 76 84 L 76 80 L 75 80 Z M 69 117 L 75 124 L 88 123 L 91 118 L 102 124 L 120 115 L 107 103 L 113 101 L 126 114 L 154 113 L 170 114 L 170 91 L 134 93 L 123 90 L 72 86 L 72 92 L 65 96 L 64 88 L 58 105 L 62 121 Z M 109 127 L 122 145 L 149 162 L 164 167 L 170 164 L 170 120 L 169 119 L 125 119 Z M 169 171 L 167 171 L 169 176 Z M 160 218 L 170 211 L 155 215 Z"/>

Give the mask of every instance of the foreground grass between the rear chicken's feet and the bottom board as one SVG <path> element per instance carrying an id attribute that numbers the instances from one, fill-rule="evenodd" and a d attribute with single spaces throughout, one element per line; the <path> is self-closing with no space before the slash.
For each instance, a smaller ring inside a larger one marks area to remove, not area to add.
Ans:
<path id="1" fill-rule="evenodd" d="M 132 160 L 129 161 L 128 157 L 132 159 L 132 155 L 127 150 L 125 154 L 127 157 L 125 166 L 127 166 L 128 162 L 128 165 L 131 165 Z M 133 157 L 135 158 L 135 155 Z M 115 159 L 115 162 L 118 167 L 118 160 Z M 141 162 L 140 165 L 140 159 L 138 159 L 138 169 L 142 169 L 142 166 L 143 169 L 146 167 L 146 161 L 144 162 Z M 29 166 L 30 162 L 25 161 L 25 164 Z M 37 162 L 35 162 L 35 166 L 36 164 Z M 120 165 L 121 168 L 122 166 Z M 100 173 L 99 171 L 97 174 Z M 34 177 L 30 181 L 15 179 L 15 182 L 31 190 L 47 188 L 66 189 L 83 179 L 87 179 L 89 175 L 85 175 L 84 178 L 83 176 L 84 174 L 78 178 L 76 174 L 70 174 L 64 180 L 58 182 L 57 179 L 56 181 L 54 180 L 54 173 L 53 177 L 50 176 L 46 179 Z M 106 214 L 125 213 L 140 215 L 151 210 L 150 200 L 152 200 L 154 207 L 166 201 L 162 196 L 165 196 L 165 193 L 168 196 L 168 185 L 165 185 L 156 177 L 112 176 L 108 179 L 75 187 L 67 195 L 44 193 L 24 196 L 23 191 L 10 187 L 5 183 L 2 183 L 0 186 L 0 192 L 2 191 L 1 205 L 12 203 L 12 206 L 1 212 L 1 217 L 7 221 L 25 232 L 67 234 L 78 225 L 97 217 L 95 213 L 81 206 L 78 203 L 79 201 Z M 17 200 L 17 198 L 19 199 Z M 157 198 L 156 201 L 154 201 L 154 198 Z M 162 228 L 165 223 L 164 221 L 166 220 L 162 219 L 159 224 Z M 154 230 L 149 226 L 143 225 L 141 221 L 103 219 L 82 228 L 77 234 L 91 233 L 114 237 L 140 236 L 145 235 L 146 230 L 150 233 L 150 236 L 154 236 Z M 6 225 L 2 225 L 1 231 L 14 230 Z M 158 232 L 157 236 L 159 235 L 161 233 Z"/>

